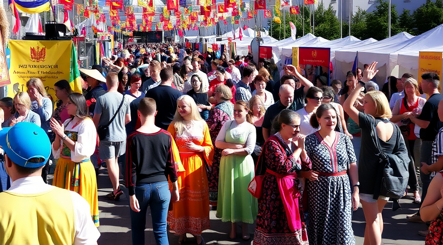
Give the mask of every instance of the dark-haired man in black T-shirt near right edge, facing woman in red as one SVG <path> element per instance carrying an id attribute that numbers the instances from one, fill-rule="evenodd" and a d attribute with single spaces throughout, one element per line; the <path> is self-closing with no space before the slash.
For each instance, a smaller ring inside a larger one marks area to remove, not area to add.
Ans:
<path id="1" fill-rule="evenodd" d="M 410 118 L 411 121 L 419 126 L 421 150 L 420 163 L 432 164 L 432 143 L 438 134 L 438 131 L 443 127 L 443 123 L 438 118 L 438 103 L 443 99 L 443 96 L 438 92 L 438 85 L 440 78 L 435 73 L 424 73 L 421 75 L 421 88 L 429 98 L 424 103 L 421 114 L 417 118 Z M 424 174 L 420 169 L 420 178 L 423 183 L 421 202 L 426 197 L 427 188 L 434 174 Z M 421 205 L 421 203 L 420 203 Z M 420 212 L 408 217 L 410 221 L 423 222 L 420 218 Z"/>

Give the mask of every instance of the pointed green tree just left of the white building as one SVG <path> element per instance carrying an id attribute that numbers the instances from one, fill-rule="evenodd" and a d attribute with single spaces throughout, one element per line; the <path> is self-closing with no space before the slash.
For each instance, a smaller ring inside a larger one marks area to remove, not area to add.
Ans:
<path id="1" fill-rule="evenodd" d="M 340 22 L 333 14 L 332 4 L 325 10 L 323 1 L 315 11 L 315 35 L 329 40 L 340 38 Z"/>

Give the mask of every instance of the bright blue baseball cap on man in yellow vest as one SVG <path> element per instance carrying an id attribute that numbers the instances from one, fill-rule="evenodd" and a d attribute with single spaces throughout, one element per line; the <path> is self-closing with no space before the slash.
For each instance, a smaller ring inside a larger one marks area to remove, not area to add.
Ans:
<path id="1" fill-rule="evenodd" d="M 0 131 L 0 146 L 15 164 L 38 168 L 46 164 L 51 155 L 51 143 L 46 132 L 30 122 L 19 122 Z M 38 163 L 28 162 L 40 158 Z"/>

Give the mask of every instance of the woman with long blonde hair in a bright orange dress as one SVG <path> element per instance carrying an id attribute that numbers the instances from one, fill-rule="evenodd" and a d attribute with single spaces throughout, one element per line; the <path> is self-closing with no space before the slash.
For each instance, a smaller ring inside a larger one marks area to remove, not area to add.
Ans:
<path id="1" fill-rule="evenodd" d="M 202 231 L 209 229 L 209 188 L 205 164 L 212 164 L 214 147 L 209 129 L 194 99 L 183 95 L 177 100 L 174 120 L 168 128 L 180 151 L 184 172 L 177 173 L 180 200 L 168 215 L 171 232 L 183 243 L 191 233 L 204 244 Z M 206 162 L 206 163 L 205 163 Z"/>

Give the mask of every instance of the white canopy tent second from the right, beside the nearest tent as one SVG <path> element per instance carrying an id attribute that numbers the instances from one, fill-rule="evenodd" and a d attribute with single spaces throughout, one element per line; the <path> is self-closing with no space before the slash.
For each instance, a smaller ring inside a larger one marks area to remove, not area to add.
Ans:
<path id="1" fill-rule="evenodd" d="M 380 86 L 383 86 L 387 77 L 387 71 L 389 68 L 389 53 L 395 52 L 406 44 L 405 41 L 413 38 L 414 36 L 406 32 L 401 32 L 390 38 L 383 39 L 381 41 L 366 44 L 356 45 L 352 48 L 344 47 L 343 49 L 335 52 L 334 78 L 342 81 L 346 80 L 346 73 L 352 70 L 355 56 L 358 51 L 358 66 L 363 67 L 363 64 L 370 64 L 373 61 L 379 62 L 377 69 L 379 72 L 376 75 L 376 79 Z"/>

